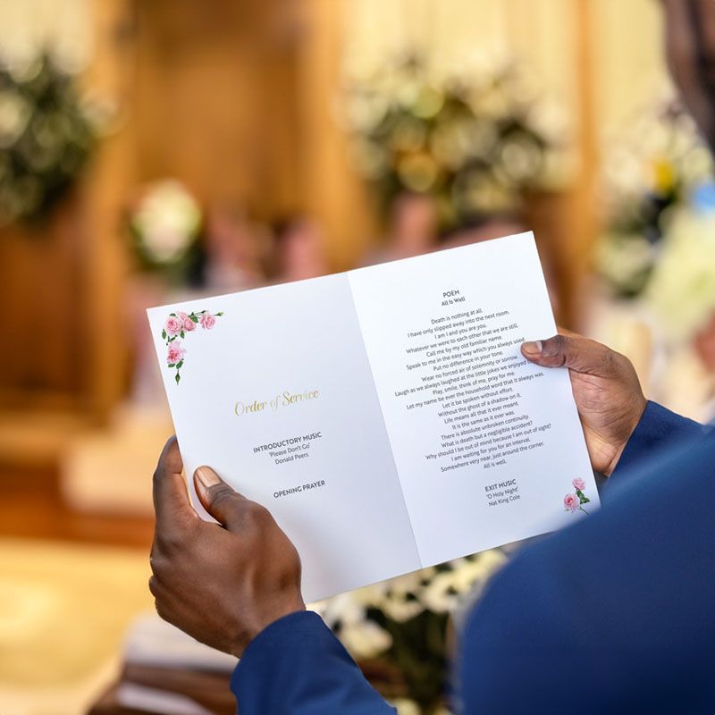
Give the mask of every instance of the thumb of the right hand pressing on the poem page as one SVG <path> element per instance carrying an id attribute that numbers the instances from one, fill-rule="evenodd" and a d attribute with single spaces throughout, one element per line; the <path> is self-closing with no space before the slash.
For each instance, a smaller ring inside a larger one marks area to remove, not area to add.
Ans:
<path id="1" fill-rule="evenodd" d="M 576 333 L 525 342 L 521 354 L 529 362 L 543 367 L 568 367 L 576 373 L 597 377 L 608 377 L 613 372 L 612 350 Z"/>

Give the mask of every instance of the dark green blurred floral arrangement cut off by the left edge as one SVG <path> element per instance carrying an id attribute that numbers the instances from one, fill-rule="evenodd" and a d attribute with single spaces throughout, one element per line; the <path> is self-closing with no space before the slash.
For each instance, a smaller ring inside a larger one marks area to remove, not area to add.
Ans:
<path id="1" fill-rule="evenodd" d="M 97 123 L 50 55 L 0 67 L 0 225 L 45 219 L 87 163 Z"/>

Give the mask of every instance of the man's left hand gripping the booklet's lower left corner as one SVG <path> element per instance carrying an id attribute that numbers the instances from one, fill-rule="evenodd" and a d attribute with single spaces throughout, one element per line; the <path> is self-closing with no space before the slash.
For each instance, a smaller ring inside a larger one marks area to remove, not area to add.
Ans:
<path id="1" fill-rule="evenodd" d="M 189 503 L 176 438 L 154 474 L 156 531 L 149 589 L 158 614 L 198 641 L 240 657 L 274 620 L 305 605 L 298 551 L 270 513 L 234 492 L 209 467 L 194 474 L 198 498 L 219 524 Z"/>

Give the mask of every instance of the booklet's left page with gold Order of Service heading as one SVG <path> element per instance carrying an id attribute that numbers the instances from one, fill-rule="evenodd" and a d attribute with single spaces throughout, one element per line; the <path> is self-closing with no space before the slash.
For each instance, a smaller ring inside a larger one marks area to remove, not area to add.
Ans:
<path id="1" fill-rule="evenodd" d="M 419 568 L 344 273 L 147 312 L 200 513 L 208 465 L 288 534 L 307 601 Z"/>

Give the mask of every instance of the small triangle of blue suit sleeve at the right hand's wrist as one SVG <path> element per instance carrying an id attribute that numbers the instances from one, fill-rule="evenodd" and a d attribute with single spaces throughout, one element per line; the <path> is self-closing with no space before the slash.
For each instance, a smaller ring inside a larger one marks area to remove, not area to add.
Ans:
<path id="1" fill-rule="evenodd" d="M 702 435 L 706 431 L 703 425 L 692 419 L 676 415 L 656 402 L 648 401 L 641 421 L 618 459 L 618 465 L 612 476 L 632 471 L 660 450 Z"/>

